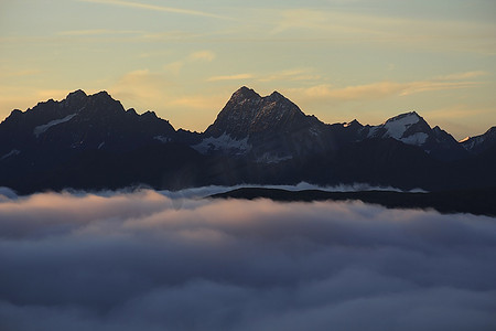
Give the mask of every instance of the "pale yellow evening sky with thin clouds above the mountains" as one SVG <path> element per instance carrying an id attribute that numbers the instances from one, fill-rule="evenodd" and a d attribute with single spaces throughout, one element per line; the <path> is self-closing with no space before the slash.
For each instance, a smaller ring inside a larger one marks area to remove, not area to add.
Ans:
<path id="1" fill-rule="evenodd" d="M 203 131 L 248 86 L 324 122 L 496 125 L 494 0 L 1 0 L 0 118 L 107 90 Z"/>

